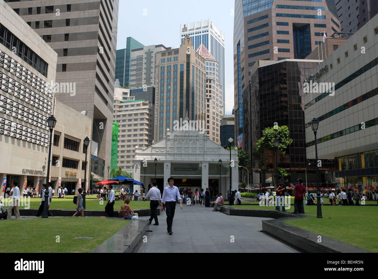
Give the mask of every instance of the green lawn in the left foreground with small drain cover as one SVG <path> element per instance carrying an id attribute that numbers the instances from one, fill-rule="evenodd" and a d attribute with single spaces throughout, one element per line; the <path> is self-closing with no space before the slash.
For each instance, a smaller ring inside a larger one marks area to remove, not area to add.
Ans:
<path id="1" fill-rule="evenodd" d="M 88 253 L 130 221 L 104 218 L 35 218 L 1 221 L 1 253 Z M 94 229 L 95 228 L 95 229 Z M 20 232 L 17 243 L 9 243 L 11 232 Z M 34 238 L 25 236 L 35 236 Z M 37 237 L 42 236 L 42 237 Z M 56 242 L 59 236 L 60 242 Z M 74 239 L 91 236 L 92 239 Z"/>

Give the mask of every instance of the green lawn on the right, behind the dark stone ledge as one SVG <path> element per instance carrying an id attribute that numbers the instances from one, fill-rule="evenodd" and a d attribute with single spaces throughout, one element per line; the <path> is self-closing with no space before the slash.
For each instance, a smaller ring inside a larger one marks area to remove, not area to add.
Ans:
<path id="1" fill-rule="evenodd" d="M 274 206 L 235 205 L 235 208 L 274 210 Z M 316 218 L 316 206 L 304 206 L 305 214 L 313 216 L 285 221 L 290 225 L 331 237 L 378 253 L 378 206 L 322 206 L 323 218 Z M 294 211 L 294 206 L 287 209 Z"/>

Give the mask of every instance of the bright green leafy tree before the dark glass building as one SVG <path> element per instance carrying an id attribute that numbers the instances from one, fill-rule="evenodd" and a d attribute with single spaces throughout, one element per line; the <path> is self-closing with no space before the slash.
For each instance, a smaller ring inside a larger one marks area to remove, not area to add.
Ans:
<path id="1" fill-rule="evenodd" d="M 253 149 L 253 155 L 258 159 L 258 166 L 269 167 L 268 158 L 266 153 L 271 152 L 273 154 L 273 166 L 276 162 L 276 148 L 274 147 L 274 139 L 279 140 L 278 151 L 280 160 L 282 161 L 285 158 L 287 147 L 293 143 L 293 140 L 290 138 L 290 132 L 287 126 L 274 126 L 267 127 L 262 132 L 262 138 L 260 138 L 256 143 L 256 148 Z M 282 176 L 287 176 L 286 169 L 279 167 L 278 174 Z M 274 167 L 272 169 L 272 177 L 274 176 Z M 273 181 L 273 180 L 272 180 Z"/>

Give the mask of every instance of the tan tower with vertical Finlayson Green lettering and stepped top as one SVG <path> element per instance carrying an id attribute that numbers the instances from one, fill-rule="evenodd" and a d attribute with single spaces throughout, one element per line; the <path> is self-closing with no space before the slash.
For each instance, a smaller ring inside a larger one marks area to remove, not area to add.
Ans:
<path id="1" fill-rule="evenodd" d="M 175 128 L 175 121 L 178 122 L 176 128 L 182 127 L 186 115 L 202 127 L 207 119 L 206 62 L 194 50 L 191 38 L 186 36 L 179 48 L 156 53 L 155 69 L 158 80 L 155 142 L 166 135 L 167 129 Z"/>

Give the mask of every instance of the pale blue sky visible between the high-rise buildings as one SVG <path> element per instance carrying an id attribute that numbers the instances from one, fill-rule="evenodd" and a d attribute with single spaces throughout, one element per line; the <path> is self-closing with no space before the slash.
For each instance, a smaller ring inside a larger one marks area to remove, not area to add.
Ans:
<path id="1" fill-rule="evenodd" d="M 207 20 L 225 34 L 226 114 L 234 107 L 234 1 L 233 0 L 119 0 L 117 50 L 126 48 L 126 38 L 143 45 L 178 48 L 180 24 Z"/>

